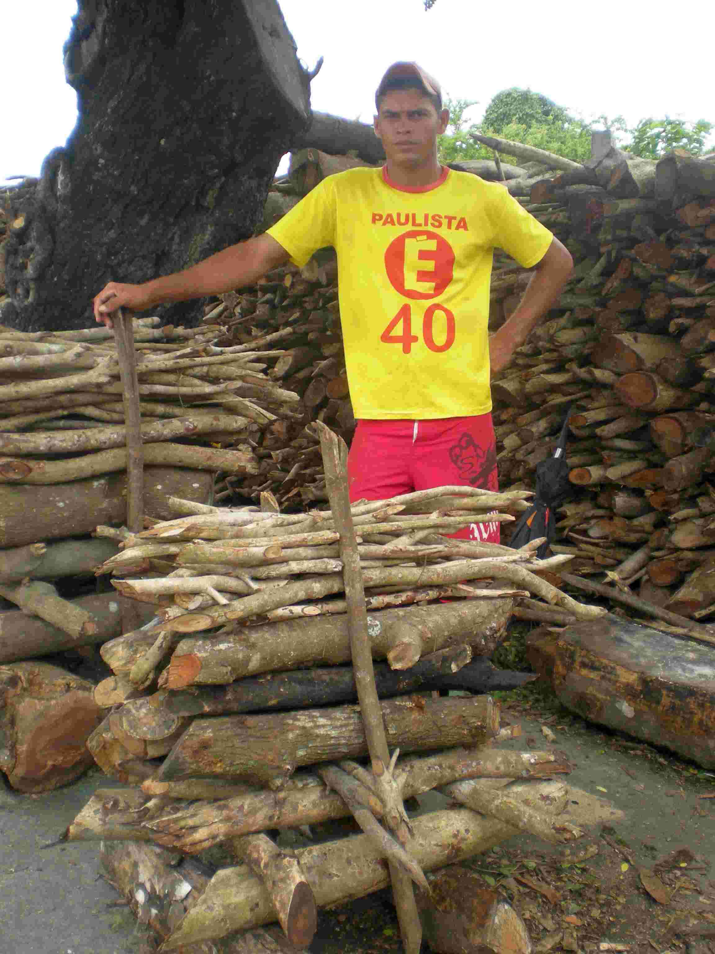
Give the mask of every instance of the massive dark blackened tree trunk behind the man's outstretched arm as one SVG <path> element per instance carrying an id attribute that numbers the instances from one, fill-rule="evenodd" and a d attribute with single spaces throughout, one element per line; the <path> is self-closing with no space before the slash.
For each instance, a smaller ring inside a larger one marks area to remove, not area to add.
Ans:
<path id="1" fill-rule="evenodd" d="M 311 115 L 276 0 L 79 0 L 65 67 L 77 125 L 10 218 L 0 323 L 29 331 L 87 327 L 107 281 L 249 238 Z"/>

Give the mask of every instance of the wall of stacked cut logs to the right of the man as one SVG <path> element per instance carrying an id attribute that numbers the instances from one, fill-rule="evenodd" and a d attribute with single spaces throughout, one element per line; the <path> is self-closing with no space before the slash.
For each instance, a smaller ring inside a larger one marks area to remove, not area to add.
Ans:
<path id="1" fill-rule="evenodd" d="M 699 619 L 715 612 L 715 162 L 599 155 L 524 203 L 576 270 L 493 385 L 501 486 L 534 486 L 569 409 L 575 502 L 553 551 Z M 520 278 L 495 273 L 497 311 Z"/>

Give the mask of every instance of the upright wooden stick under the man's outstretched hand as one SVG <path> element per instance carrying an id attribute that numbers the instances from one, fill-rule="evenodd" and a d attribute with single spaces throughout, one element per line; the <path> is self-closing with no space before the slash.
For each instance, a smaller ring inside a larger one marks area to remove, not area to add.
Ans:
<path id="1" fill-rule="evenodd" d="M 138 533 L 144 529 L 144 454 L 132 312 L 117 309 L 113 327 L 127 429 L 127 528 Z"/>

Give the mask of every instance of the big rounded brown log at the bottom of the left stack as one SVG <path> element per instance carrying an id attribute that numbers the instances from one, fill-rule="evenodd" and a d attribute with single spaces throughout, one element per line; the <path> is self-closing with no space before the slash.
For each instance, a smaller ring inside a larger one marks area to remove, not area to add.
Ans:
<path id="1" fill-rule="evenodd" d="M 0 668 L 0 769 L 20 792 L 49 792 L 92 765 L 88 736 L 102 717 L 92 683 L 45 662 Z"/>

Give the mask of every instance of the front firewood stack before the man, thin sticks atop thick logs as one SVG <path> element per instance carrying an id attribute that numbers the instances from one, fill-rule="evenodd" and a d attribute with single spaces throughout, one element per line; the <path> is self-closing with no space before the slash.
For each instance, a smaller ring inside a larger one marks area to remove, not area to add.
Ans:
<path id="1" fill-rule="evenodd" d="M 261 509 L 228 511 L 171 500 L 185 516 L 128 538 L 105 564 L 122 577 L 117 590 L 151 602 L 156 618 L 104 645 L 114 676 L 94 699 L 109 711 L 88 745 L 108 776 L 138 786 L 97 792 L 66 837 L 105 841 L 110 880 L 163 949 L 225 939 L 222 950 L 242 951 L 246 936 L 232 932 L 276 918 L 291 944 L 308 944 L 317 906 L 388 882 L 382 859 L 424 889 L 423 871 L 517 830 L 557 842 L 581 834 L 562 815 L 569 797 L 561 784 L 493 787 L 493 779 L 543 778 L 569 766 L 557 754 L 487 748 L 501 734 L 498 705 L 469 694 L 530 678 L 488 661 L 515 596 L 539 596 L 571 618 L 603 610 L 537 575 L 563 557 L 539 561 L 532 546 L 443 536 L 469 523 L 508 522 L 508 509 L 523 508 L 528 496 L 438 487 L 349 508 L 371 651 L 386 660 L 375 665 L 375 685 L 387 742 L 403 754 L 433 753 L 400 762 L 400 798 L 439 789 L 460 803 L 413 819 L 401 843 L 379 824 L 384 801 L 356 761 L 368 755 L 369 734 L 364 710 L 350 704 L 359 671 L 350 665 L 337 511 L 284 515 L 268 496 Z M 461 693 L 424 692 L 437 689 Z M 266 833 L 351 814 L 363 835 L 296 852 Z M 211 879 L 196 875 L 191 858 L 182 861 L 217 845 L 227 866 Z M 148 880 L 159 868 L 161 877 Z M 186 886 L 170 905 L 176 870 L 186 872 Z M 420 904 L 431 902 L 425 895 Z M 512 915 L 503 930 L 527 937 Z M 495 919 L 488 922 L 493 929 Z"/>

